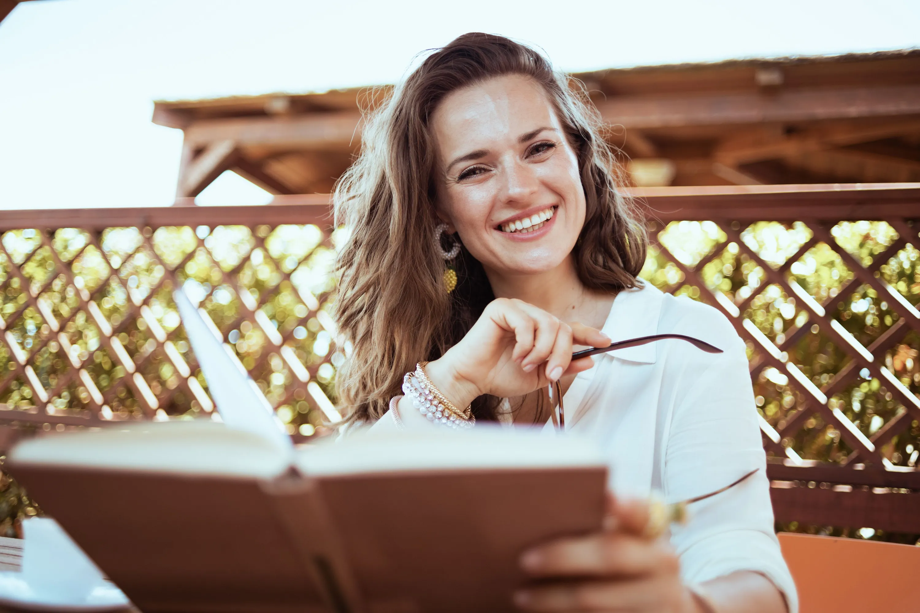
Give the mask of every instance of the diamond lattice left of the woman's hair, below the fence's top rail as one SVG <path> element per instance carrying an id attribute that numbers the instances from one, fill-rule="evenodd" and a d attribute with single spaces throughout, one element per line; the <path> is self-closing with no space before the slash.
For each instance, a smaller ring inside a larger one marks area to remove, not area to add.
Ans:
<path id="1" fill-rule="evenodd" d="M 172 300 L 201 301 L 297 438 L 335 415 L 339 233 L 316 225 L 12 230 L 0 241 L 0 419 L 63 430 L 213 414 Z"/>

